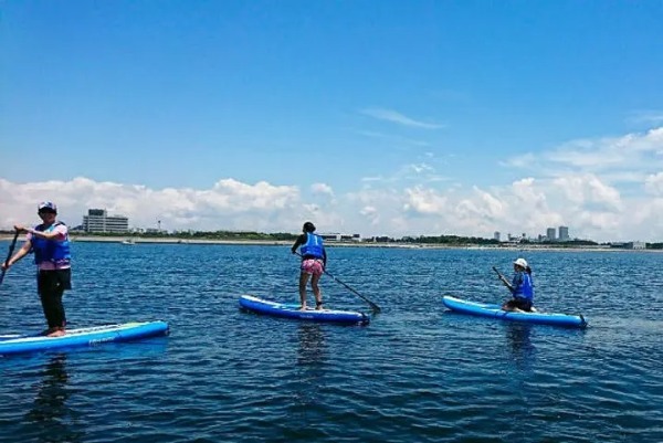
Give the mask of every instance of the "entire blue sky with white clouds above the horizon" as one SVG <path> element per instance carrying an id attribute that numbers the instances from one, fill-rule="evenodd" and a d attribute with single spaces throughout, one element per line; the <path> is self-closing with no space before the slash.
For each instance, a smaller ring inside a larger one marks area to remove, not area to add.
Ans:
<path id="1" fill-rule="evenodd" d="M 0 229 L 663 241 L 663 1 L 0 1 Z"/>

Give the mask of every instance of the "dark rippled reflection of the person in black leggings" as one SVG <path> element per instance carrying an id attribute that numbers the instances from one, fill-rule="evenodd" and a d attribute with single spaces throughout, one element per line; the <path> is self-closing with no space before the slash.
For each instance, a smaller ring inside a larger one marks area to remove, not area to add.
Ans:
<path id="1" fill-rule="evenodd" d="M 71 393 L 66 355 L 53 356 L 39 375 L 42 379 L 36 386 L 32 408 L 25 414 L 25 423 L 38 433 L 41 442 L 81 441 L 82 434 L 70 426 L 73 411 L 66 404 Z"/>

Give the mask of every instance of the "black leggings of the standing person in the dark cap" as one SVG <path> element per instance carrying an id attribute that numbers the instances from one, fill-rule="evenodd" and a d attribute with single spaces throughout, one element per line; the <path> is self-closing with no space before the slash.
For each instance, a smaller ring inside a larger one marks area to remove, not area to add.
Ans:
<path id="1" fill-rule="evenodd" d="M 40 271 L 36 276 L 36 288 L 49 328 L 64 328 L 66 316 L 62 296 L 65 289 L 72 288 L 71 270 Z"/>

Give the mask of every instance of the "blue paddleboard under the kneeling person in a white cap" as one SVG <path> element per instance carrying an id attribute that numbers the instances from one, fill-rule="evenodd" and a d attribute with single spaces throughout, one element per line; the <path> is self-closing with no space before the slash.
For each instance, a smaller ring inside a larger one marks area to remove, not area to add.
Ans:
<path id="1" fill-rule="evenodd" d="M 585 317 L 581 315 L 549 314 L 549 313 L 514 313 L 502 310 L 501 305 L 487 303 L 467 302 L 460 298 L 445 295 L 442 303 L 449 309 L 456 313 L 476 315 L 481 317 L 499 318 L 511 321 L 535 323 L 539 325 L 554 325 L 566 327 L 583 328 L 587 326 Z"/>

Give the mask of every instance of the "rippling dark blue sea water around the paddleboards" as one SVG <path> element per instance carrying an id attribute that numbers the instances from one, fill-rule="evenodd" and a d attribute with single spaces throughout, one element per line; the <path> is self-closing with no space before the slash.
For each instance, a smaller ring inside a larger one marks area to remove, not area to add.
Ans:
<path id="1" fill-rule="evenodd" d="M 8 242 L 0 243 L 7 251 Z M 663 254 L 529 252 L 564 329 L 446 312 L 501 302 L 514 251 L 329 247 L 381 306 L 369 326 L 243 313 L 296 300 L 287 246 L 74 243 L 71 327 L 162 319 L 168 337 L 0 358 L 1 442 L 662 442 Z M 4 255 L 2 253 L 2 255 Z M 25 259 L 0 334 L 41 330 Z M 328 307 L 368 312 L 328 277 Z"/>

